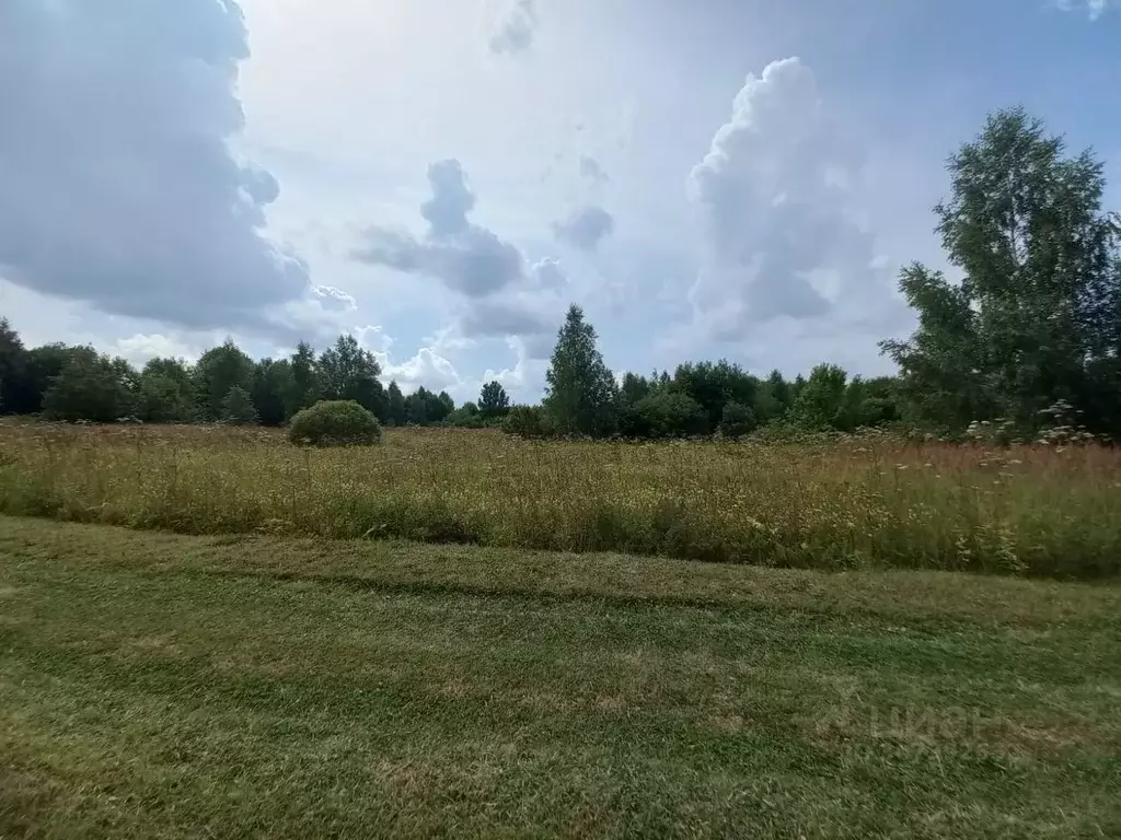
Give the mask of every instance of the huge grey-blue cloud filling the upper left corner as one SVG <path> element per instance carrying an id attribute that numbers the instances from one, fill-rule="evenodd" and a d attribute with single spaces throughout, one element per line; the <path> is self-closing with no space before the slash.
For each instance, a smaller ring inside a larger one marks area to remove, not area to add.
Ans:
<path id="1" fill-rule="evenodd" d="M 0 2 L 0 273 L 113 314 L 267 326 L 307 293 L 238 161 L 234 0 Z"/>

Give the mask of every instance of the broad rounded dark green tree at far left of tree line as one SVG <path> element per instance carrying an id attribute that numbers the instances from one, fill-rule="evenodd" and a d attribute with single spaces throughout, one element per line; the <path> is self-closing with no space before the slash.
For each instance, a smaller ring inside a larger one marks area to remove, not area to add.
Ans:
<path id="1" fill-rule="evenodd" d="M 121 365 L 93 347 L 73 347 L 43 396 L 52 420 L 110 423 L 132 413 L 133 393 Z"/>

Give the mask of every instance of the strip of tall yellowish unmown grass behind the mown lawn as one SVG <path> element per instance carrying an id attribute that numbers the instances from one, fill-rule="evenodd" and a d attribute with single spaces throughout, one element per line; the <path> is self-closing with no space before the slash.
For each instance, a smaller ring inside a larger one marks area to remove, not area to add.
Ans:
<path id="1" fill-rule="evenodd" d="M 0 426 L 0 513 L 182 533 L 405 538 L 826 569 L 1121 571 L 1121 452 L 511 439 L 299 449 L 224 427 Z"/>

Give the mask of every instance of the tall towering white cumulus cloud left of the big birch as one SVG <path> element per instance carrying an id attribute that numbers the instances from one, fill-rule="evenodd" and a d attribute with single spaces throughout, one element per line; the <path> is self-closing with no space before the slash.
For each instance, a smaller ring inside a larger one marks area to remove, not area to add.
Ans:
<path id="1" fill-rule="evenodd" d="M 799 59 L 748 76 L 688 178 L 703 232 L 689 297 L 713 334 L 827 316 L 883 291 L 873 239 L 849 207 L 856 159 L 840 137 Z"/>

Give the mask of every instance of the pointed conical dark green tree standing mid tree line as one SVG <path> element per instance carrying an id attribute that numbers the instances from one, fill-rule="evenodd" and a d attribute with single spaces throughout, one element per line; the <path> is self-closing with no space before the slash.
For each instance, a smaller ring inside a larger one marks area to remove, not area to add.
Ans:
<path id="1" fill-rule="evenodd" d="M 595 329 L 576 305 L 568 307 L 545 381 L 543 408 L 562 435 L 614 430 L 615 381 L 595 346 Z"/>

